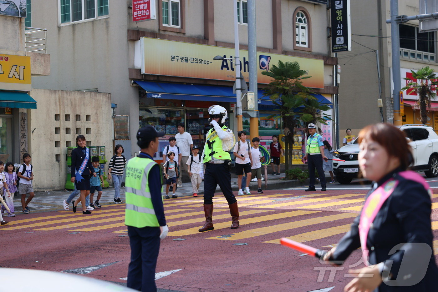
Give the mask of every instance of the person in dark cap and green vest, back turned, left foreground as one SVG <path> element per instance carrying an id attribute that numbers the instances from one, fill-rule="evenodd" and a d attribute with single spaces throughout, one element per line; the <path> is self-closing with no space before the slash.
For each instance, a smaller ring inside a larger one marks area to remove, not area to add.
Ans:
<path id="1" fill-rule="evenodd" d="M 125 224 L 131 245 L 127 286 L 138 291 L 156 291 L 155 267 L 160 239 L 169 232 L 161 196 L 161 171 L 152 158 L 158 151 L 158 137 L 164 134 L 152 126 L 139 129 L 140 154 L 131 158 L 126 166 Z"/>

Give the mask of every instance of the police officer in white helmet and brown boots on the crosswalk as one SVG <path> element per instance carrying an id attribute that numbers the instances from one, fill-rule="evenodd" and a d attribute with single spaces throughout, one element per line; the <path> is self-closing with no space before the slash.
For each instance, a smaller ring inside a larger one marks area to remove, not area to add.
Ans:
<path id="1" fill-rule="evenodd" d="M 208 109 L 208 114 L 210 115 L 208 120 L 213 128 L 207 132 L 202 153 L 203 165 L 201 165 L 199 173 L 204 178 L 205 213 L 205 224 L 199 231 L 214 229 L 212 222 L 213 196 L 218 184 L 230 207 L 230 214 L 233 218 L 231 229 L 237 229 L 239 228 L 239 209 L 231 189 L 231 156 L 229 152 L 234 145 L 234 134 L 224 125 L 228 119 L 228 113 L 223 106 L 211 106 Z"/>

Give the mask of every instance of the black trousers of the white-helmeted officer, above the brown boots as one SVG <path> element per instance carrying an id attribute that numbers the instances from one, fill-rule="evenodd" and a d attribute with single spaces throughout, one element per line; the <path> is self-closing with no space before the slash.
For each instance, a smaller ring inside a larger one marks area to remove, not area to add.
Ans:
<path id="1" fill-rule="evenodd" d="M 213 204 L 216 186 L 219 185 L 220 190 L 226 198 L 228 204 L 237 202 L 231 189 L 231 174 L 225 168 L 225 163 L 220 164 L 205 164 L 204 174 L 204 204 Z"/>

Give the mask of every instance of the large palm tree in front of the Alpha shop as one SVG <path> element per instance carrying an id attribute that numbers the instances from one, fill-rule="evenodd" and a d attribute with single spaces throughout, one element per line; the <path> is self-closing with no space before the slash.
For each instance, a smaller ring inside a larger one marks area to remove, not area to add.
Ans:
<path id="1" fill-rule="evenodd" d="M 319 113 L 327 110 L 328 106 L 319 105 L 318 100 L 310 95 L 310 89 L 302 84 L 306 71 L 301 70 L 298 62 L 278 62 L 272 65 L 267 72 L 261 74 L 272 78 L 265 88 L 265 96 L 269 96 L 272 103 L 279 106 L 279 115 L 273 114 L 268 118 L 281 117 L 283 120 L 283 134 L 285 135 L 285 166 L 289 169 L 292 158 L 293 135 L 302 121 L 318 121 L 326 123 Z"/>

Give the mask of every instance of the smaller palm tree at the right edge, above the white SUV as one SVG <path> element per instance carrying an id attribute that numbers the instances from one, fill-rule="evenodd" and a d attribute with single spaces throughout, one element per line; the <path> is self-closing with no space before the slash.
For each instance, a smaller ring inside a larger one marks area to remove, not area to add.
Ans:
<path id="1" fill-rule="evenodd" d="M 438 85 L 437 76 L 429 66 L 413 71 L 411 78 L 402 90 L 413 90 L 418 95 L 416 106 L 420 108 L 420 119 L 424 125 L 427 123 L 427 108 L 431 106 L 431 99 L 436 97 L 435 86 Z"/>

